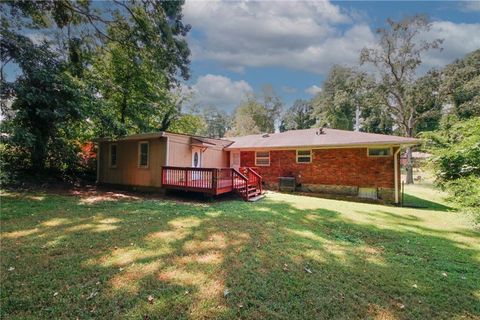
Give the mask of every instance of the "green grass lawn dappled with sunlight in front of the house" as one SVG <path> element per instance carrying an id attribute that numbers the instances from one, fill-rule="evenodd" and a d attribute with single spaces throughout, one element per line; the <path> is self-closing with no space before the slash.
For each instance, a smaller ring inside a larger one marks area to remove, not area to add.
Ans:
<path id="1" fill-rule="evenodd" d="M 480 233 L 425 209 L 3 192 L 4 319 L 479 319 Z"/>

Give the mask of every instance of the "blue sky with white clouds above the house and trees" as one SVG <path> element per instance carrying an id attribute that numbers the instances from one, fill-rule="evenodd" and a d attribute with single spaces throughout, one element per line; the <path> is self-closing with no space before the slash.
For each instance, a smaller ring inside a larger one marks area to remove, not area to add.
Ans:
<path id="1" fill-rule="evenodd" d="M 355 65 L 388 17 L 427 14 L 423 39 L 443 38 L 443 51 L 425 55 L 420 72 L 480 48 L 480 1 L 262 1 L 187 0 L 192 25 L 193 103 L 231 112 L 248 92 L 271 84 L 286 107 L 321 90 L 329 68 Z"/>

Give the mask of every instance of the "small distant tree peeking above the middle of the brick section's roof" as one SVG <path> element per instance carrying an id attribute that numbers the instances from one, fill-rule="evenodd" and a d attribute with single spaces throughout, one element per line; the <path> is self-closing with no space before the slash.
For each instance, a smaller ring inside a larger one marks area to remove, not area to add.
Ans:
<path id="1" fill-rule="evenodd" d="M 308 129 L 315 125 L 311 101 L 296 100 L 293 106 L 285 112 L 280 123 L 280 132 L 287 130 Z"/>

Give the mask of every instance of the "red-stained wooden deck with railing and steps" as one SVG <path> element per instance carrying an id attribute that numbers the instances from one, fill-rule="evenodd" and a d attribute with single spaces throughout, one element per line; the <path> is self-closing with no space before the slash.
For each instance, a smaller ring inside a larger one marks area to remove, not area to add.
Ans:
<path id="1" fill-rule="evenodd" d="M 241 172 L 240 172 L 241 171 Z M 262 178 L 251 168 L 190 168 L 164 166 L 162 187 L 219 195 L 236 192 L 249 200 L 262 193 Z"/>

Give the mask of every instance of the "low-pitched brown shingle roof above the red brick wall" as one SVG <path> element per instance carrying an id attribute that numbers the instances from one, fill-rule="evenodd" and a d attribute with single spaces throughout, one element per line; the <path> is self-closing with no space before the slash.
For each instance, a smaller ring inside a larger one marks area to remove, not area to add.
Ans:
<path id="1" fill-rule="evenodd" d="M 384 134 L 355 132 L 337 129 L 291 130 L 280 133 L 255 134 L 227 138 L 233 141 L 226 149 L 266 149 L 295 147 L 334 147 L 355 145 L 415 145 L 419 139 L 389 136 Z"/>

